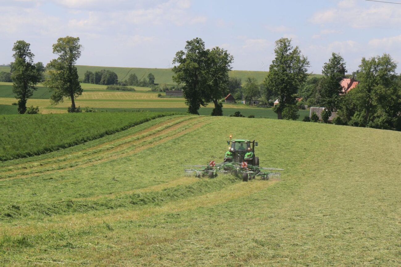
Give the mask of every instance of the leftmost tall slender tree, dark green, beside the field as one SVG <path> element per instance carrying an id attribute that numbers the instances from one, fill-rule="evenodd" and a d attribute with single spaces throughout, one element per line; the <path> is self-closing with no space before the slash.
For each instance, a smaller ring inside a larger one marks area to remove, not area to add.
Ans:
<path id="1" fill-rule="evenodd" d="M 33 63 L 34 54 L 29 47 L 30 44 L 24 40 L 18 40 L 12 48 L 12 51 L 14 51 L 12 55 L 14 62 L 11 63 L 11 79 L 14 81 L 12 91 L 15 93 L 16 99 L 19 99 L 19 114 L 26 112 L 26 100 L 33 95 L 33 91 L 36 90 L 35 85 L 41 78 L 40 71 Z"/>

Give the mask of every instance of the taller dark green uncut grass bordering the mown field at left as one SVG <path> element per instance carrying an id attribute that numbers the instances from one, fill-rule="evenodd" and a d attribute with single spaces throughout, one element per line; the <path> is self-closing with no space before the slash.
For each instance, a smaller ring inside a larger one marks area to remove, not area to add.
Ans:
<path id="1" fill-rule="evenodd" d="M 0 160 L 43 154 L 122 131 L 160 112 L 4 115 L 1 118 Z"/>

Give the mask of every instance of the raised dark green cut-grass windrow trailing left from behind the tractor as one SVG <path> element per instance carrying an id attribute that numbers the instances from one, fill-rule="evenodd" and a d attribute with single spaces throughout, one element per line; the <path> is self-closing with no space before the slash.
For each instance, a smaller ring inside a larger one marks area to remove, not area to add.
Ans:
<path id="1" fill-rule="evenodd" d="M 10 204 L 0 207 L 0 221 L 20 220 L 21 218 L 38 220 L 46 216 L 59 214 L 77 214 L 95 210 L 134 208 L 144 205 L 158 206 L 164 202 L 215 192 L 239 181 L 241 180 L 234 176 L 222 176 L 215 179 L 199 180 L 193 184 L 165 188 L 158 192 L 122 194 L 115 197 L 103 197 L 95 200 L 35 201 L 23 205 Z"/>

